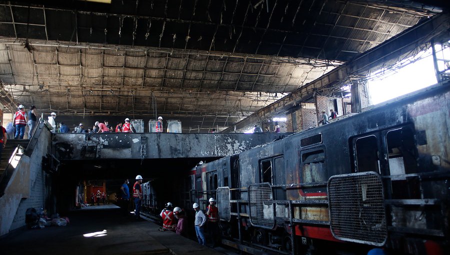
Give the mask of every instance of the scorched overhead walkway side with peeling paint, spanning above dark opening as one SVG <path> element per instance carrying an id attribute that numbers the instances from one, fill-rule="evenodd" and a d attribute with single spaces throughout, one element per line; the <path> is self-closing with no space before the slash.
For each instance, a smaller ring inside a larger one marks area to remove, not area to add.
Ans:
<path id="1" fill-rule="evenodd" d="M 52 152 L 58 159 L 218 157 L 238 154 L 279 136 L 279 133 L 53 134 Z"/>

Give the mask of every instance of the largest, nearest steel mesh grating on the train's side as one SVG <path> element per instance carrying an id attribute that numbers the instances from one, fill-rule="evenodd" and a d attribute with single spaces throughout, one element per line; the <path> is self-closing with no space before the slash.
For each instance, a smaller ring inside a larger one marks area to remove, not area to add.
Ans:
<path id="1" fill-rule="evenodd" d="M 387 238 L 381 177 L 376 172 L 331 176 L 330 228 L 339 240 L 381 246 Z"/>

